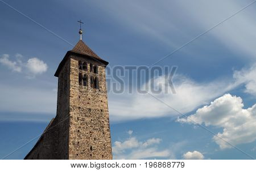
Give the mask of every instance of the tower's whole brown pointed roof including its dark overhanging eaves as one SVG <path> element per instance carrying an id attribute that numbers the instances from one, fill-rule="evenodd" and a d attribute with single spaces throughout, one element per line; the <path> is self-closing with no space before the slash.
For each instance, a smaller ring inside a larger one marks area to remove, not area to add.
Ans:
<path id="1" fill-rule="evenodd" d="M 71 54 L 75 54 L 75 55 L 78 55 L 78 56 L 81 56 L 84 58 L 94 59 L 94 61 L 100 62 L 100 63 L 104 64 L 105 66 L 107 66 L 109 64 L 109 62 L 98 57 L 98 55 L 96 53 L 94 53 L 92 51 L 92 49 L 90 49 L 82 40 L 79 40 L 79 42 L 77 42 L 75 47 L 72 50 L 69 50 L 65 54 L 65 57 L 60 62 L 60 65 L 58 66 L 57 71 L 55 72 L 54 76 L 56 76 L 56 77 L 59 76 L 60 70 L 65 65 L 65 62 L 67 61 L 67 59 L 70 57 Z"/>

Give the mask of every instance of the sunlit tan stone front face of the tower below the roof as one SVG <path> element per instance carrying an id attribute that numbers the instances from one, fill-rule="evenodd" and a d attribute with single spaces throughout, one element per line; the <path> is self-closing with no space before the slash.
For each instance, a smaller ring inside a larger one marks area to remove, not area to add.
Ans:
<path id="1" fill-rule="evenodd" d="M 86 61 L 88 70 L 79 70 Z M 98 66 L 90 72 L 89 63 Z M 88 86 L 79 85 L 79 73 L 87 74 Z M 99 89 L 90 87 L 90 76 L 97 76 Z M 69 159 L 112 159 L 105 66 L 71 56 Z"/>

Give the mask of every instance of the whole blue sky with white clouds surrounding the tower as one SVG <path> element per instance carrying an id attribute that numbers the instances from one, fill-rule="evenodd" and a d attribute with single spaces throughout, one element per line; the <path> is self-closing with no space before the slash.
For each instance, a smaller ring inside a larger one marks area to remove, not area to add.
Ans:
<path id="1" fill-rule="evenodd" d="M 85 23 L 83 40 L 110 67 L 151 66 L 253 1 L 5 2 L 62 39 L 0 1 L 0 158 L 42 134 L 55 117 L 53 74 L 79 40 L 77 20 Z M 114 159 L 256 157 L 255 8 L 155 64 L 177 66 L 176 94 L 153 94 L 159 101 L 109 92 Z M 156 80 L 163 84 L 163 76 Z M 35 142 L 6 159 L 23 159 Z"/>

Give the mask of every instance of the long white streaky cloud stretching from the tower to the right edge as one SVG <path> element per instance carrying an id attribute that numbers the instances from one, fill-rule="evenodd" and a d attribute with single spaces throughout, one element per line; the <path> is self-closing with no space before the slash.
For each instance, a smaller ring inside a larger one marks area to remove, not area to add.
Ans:
<path id="1" fill-rule="evenodd" d="M 143 87 L 149 85 L 149 80 Z M 216 97 L 224 95 L 224 93 L 245 85 L 245 91 L 251 95 L 256 95 L 256 64 L 249 69 L 234 71 L 233 77 L 225 79 L 216 79 L 212 82 L 199 83 L 188 77 L 176 74 L 172 83 L 175 86 L 176 93 L 172 93 L 171 87 L 166 82 L 165 76 L 155 78 L 154 86 L 167 92 L 161 91 L 155 93 L 148 91 L 154 95 L 141 94 L 134 92 L 133 94 L 117 94 L 109 95 L 109 111 L 112 121 L 125 121 L 129 119 L 154 118 L 166 116 L 179 116 L 175 110 L 180 113 L 188 113 L 201 105 L 209 104 Z M 149 86 L 148 86 L 149 87 Z M 163 104 L 163 102 L 166 104 Z"/>

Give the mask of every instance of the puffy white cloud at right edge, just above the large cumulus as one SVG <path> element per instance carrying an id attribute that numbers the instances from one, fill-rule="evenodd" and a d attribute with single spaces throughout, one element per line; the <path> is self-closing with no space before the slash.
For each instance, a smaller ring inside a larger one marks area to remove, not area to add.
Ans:
<path id="1" fill-rule="evenodd" d="M 256 96 L 256 63 L 249 69 L 234 71 L 234 79 L 245 84 L 245 92 Z"/>

